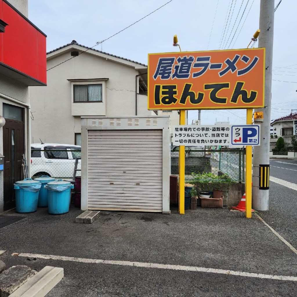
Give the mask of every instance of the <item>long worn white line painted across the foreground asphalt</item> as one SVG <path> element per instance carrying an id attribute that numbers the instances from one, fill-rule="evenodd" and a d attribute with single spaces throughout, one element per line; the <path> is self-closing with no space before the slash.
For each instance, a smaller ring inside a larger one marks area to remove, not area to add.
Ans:
<path id="1" fill-rule="evenodd" d="M 236 275 L 236 276 L 242 276 L 242 277 L 256 277 L 256 278 L 260 278 L 260 279 L 288 280 L 288 281 L 293 281 L 293 282 L 297 281 L 297 277 L 292 277 L 292 276 L 250 273 L 250 272 L 243 272 L 243 271 L 233 271 L 233 270 L 215 269 L 215 268 L 206 268 L 206 267 L 197 267 L 197 266 L 181 266 L 181 265 L 146 263 L 146 262 L 87 259 L 87 258 L 75 258 L 75 257 L 55 256 L 55 255 L 41 255 L 41 254 L 31 254 L 31 253 L 20 253 L 18 256 L 19 257 L 51 259 L 51 260 L 72 261 L 72 262 L 81 262 L 81 263 L 110 264 L 110 265 L 121 265 L 121 266 L 134 266 L 134 267 L 145 267 L 145 268 L 159 268 L 159 269 L 170 269 L 170 270 L 217 273 L 217 274 L 226 274 L 226 275 Z"/>

